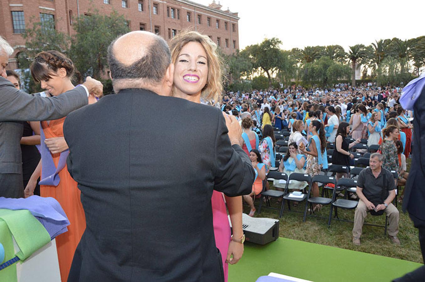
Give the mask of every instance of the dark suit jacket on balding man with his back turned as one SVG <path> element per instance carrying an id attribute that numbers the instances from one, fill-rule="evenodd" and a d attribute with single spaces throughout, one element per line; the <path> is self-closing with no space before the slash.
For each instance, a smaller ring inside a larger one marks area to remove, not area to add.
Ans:
<path id="1" fill-rule="evenodd" d="M 126 89 L 64 136 L 87 223 L 68 281 L 221 281 L 212 190 L 249 194 L 255 172 L 220 109 Z"/>

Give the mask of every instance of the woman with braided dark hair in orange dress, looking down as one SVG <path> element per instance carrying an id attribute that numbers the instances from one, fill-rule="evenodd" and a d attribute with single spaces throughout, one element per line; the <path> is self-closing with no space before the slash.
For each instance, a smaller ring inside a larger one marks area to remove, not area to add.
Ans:
<path id="1" fill-rule="evenodd" d="M 37 54 L 31 64 L 31 75 L 46 91 L 46 96 L 59 96 L 74 88 L 71 82 L 75 73 L 73 62 L 58 51 Z M 89 96 L 89 104 L 96 102 Z M 77 182 L 71 178 L 66 166 L 68 145 L 63 137 L 64 118 L 41 122 L 41 161 L 25 189 L 26 197 L 34 192 L 40 177 L 40 195 L 55 198 L 68 216 L 68 232 L 56 237 L 59 269 L 62 281 L 67 281 L 75 249 L 85 230 L 85 214 Z M 34 181 L 35 180 L 35 181 Z"/>

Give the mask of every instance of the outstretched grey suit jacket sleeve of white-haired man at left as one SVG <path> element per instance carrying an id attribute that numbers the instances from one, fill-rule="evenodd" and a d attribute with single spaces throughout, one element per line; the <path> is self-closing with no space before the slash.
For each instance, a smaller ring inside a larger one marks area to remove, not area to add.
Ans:
<path id="1" fill-rule="evenodd" d="M 88 103 L 84 87 L 57 97 L 28 95 L 0 77 L 0 121 L 42 121 L 62 118 Z"/>

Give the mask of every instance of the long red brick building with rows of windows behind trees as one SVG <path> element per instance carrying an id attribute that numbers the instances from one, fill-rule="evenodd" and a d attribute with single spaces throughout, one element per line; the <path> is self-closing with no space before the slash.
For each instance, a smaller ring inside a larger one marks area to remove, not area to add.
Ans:
<path id="1" fill-rule="evenodd" d="M 31 28 L 31 19 L 53 19 L 57 30 L 72 35 L 73 18 L 93 9 L 106 14 L 116 10 L 130 30 L 151 31 L 167 41 L 192 29 L 210 36 L 226 54 L 239 48 L 238 13 L 221 10 L 215 0 L 209 6 L 187 0 L 0 0 L 0 35 L 15 48 L 10 68 L 19 68 L 17 56 L 25 49 L 22 33 Z"/>

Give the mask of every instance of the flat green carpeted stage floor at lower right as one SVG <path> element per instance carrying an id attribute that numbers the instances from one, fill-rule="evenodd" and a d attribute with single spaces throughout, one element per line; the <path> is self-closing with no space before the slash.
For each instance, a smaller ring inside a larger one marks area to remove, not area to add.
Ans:
<path id="1" fill-rule="evenodd" d="M 229 265 L 229 282 L 254 282 L 270 272 L 315 282 L 388 282 L 421 265 L 280 237 L 264 246 L 245 243 L 242 259 Z"/>

